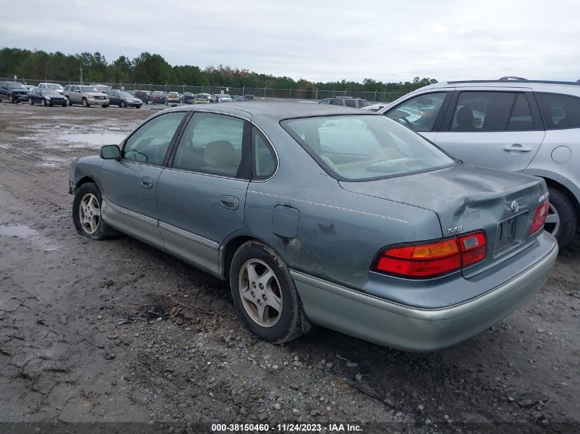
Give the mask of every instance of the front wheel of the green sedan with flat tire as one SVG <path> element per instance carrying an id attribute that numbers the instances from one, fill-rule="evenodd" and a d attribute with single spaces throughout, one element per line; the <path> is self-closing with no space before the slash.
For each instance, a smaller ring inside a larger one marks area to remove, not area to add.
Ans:
<path id="1" fill-rule="evenodd" d="M 108 239 L 118 234 L 101 218 L 102 202 L 103 198 L 97 184 L 87 182 L 76 189 L 73 199 L 73 223 L 79 234 L 94 240 Z"/>

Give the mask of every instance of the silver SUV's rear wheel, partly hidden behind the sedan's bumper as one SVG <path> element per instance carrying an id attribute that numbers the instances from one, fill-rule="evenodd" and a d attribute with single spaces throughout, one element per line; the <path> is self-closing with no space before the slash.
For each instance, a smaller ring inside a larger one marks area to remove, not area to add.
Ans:
<path id="1" fill-rule="evenodd" d="M 556 237 L 559 248 L 564 248 L 572 241 L 578 226 L 576 210 L 564 193 L 557 189 L 548 189 L 548 191 L 550 192 L 550 210 L 548 210 L 544 229 Z"/>

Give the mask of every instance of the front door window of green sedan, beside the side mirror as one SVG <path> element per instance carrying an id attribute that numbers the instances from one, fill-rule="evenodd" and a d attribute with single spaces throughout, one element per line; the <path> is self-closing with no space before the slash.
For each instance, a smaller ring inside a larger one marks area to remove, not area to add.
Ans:
<path id="1" fill-rule="evenodd" d="M 142 162 L 148 165 L 161 166 L 178 126 L 185 117 L 185 112 L 161 114 L 148 121 L 130 136 L 123 151 L 125 160 Z"/>

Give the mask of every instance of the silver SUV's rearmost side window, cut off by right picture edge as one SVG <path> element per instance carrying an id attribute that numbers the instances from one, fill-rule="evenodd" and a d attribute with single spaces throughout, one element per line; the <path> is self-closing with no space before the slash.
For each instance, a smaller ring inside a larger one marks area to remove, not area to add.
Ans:
<path id="1" fill-rule="evenodd" d="M 580 128 L 580 98 L 556 93 L 536 93 L 547 130 Z"/>

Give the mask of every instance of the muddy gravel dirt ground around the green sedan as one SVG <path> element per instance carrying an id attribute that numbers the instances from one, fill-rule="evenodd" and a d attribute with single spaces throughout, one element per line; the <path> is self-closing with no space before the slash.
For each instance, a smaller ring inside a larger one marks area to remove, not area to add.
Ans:
<path id="1" fill-rule="evenodd" d="M 71 159 L 149 114 L 0 104 L 0 422 L 580 431 L 580 234 L 534 300 L 448 350 L 323 328 L 270 345 L 246 331 L 227 283 L 128 237 L 74 230 Z"/>

